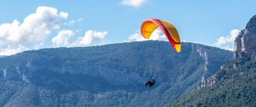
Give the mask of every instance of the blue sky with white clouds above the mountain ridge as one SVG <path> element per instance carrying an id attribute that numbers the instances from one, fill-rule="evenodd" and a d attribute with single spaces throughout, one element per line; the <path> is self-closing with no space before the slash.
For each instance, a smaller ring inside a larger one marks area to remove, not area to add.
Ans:
<path id="1" fill-rule="evenodd" d="M 149 18 L 173 24 L 181 41 L 233 49 L 256 14 L 255 0 L 1 1 L 0 55 L 56 47 L 141 41 Z M 156 29 L 151 40 L 163 40 Z"/>

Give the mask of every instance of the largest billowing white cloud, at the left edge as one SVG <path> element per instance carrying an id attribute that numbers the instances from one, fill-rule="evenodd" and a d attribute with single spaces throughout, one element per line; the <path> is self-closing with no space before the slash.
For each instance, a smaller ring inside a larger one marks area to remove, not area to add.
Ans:
<path id="1" fill-rule="evenodd" d="M 0 25 L 0 47 L 7 45 L 6 49 L 1 49 L 0 55 L 12 55 L 34 46 L 39 48 L 43 41 L 68 18 L 68 13 L 57 13 L 57 9 L 52 7 L 38 7 L 36 13 L 28 15 L 23 23 L 13 20 L 12 23 Z"/>

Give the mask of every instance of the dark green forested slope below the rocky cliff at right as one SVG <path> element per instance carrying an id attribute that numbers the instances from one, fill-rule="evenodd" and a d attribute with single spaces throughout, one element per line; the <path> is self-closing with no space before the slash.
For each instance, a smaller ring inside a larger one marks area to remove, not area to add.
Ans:
<path id="1" fill-rule="evenodd" d="M 256 106 L 256 58 L 241 58 L 222 66 L 213 86 L 203 87 L 168 106 Z"/>

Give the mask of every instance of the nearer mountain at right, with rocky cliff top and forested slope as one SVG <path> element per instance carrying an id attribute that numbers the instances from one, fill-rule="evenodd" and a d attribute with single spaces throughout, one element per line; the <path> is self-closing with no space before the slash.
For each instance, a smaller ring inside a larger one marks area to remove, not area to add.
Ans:
<path id="1" fill-rule="evenodd" d="M 233 60 L 167 106 L 256 106 L 256 15 L 235 39 Z"/>

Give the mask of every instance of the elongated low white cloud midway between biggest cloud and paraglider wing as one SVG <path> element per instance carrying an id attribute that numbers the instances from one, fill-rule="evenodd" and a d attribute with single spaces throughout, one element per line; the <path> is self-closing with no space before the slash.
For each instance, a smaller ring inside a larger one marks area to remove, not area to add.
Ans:
<path id="1" fill-rule="evenodd" d="M 83 37 L 78 37 L 77 41 L 70 44 L 70 47 L 92 46 L 95 44 L 102 44 L 105 36 L 108 35 L 107 31 L 86 31 Z"/>

